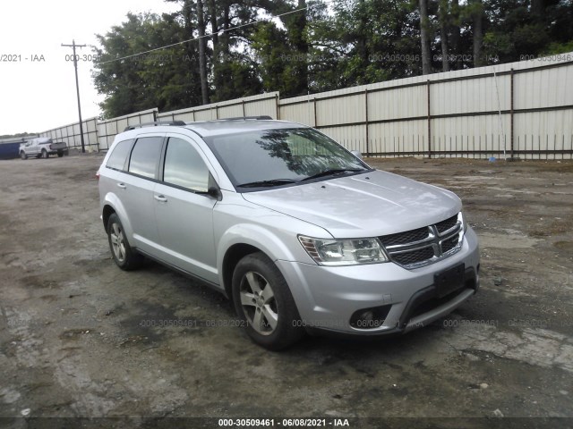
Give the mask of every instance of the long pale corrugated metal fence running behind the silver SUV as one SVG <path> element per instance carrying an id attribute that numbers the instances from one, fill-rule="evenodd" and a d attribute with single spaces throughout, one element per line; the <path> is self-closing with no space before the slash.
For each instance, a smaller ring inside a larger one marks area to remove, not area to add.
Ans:
<path id="1" fill-rule="evenodd" d="M 91 147 L 105 150 L 135 123 L 261 114 L 311 125 L 366 156 L 571 159 L 573 53 L 305 97 L 280 99 L 273 92 L 174 112 L 151 109 L 87 129 L 96 129 Z M 76 126 L 41 135 L 60 132 L 77 147 Z"/>

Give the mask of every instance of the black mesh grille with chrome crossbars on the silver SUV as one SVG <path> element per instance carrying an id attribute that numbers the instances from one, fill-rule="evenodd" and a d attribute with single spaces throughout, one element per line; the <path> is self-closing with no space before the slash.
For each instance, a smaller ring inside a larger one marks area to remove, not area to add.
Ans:
<path id="1" fill-rule="evenodd" d="M 414 269 L 457 253 L 463 237 L 460 213 L 423 228 L 384 235 L 380 240 L 391 261 Z"/>

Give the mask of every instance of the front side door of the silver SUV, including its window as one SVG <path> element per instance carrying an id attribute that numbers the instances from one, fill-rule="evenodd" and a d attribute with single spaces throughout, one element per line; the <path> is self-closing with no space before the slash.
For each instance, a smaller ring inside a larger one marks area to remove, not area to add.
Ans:
<path id="1" fill-rule="evenodd" d="M 213 237 L 213 207 L 207 195 L 217 186 L 209 161 L 191 138 L 167 134 L 167 147 L 153 203 L 161 240 L 161 258 L 171 265 L 218 283 Z"/>

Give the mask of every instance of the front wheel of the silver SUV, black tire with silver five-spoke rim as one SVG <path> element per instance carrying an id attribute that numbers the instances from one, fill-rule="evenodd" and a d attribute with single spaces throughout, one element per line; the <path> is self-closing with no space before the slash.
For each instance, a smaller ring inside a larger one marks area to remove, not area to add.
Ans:
<path id="1" fill-rule="evenodd" d="M 285 278 L 261 252 L 247 255 L 236 265 L 233 302 L 247 334 L 265 349 L 286 349 L 304 336 Z"/>

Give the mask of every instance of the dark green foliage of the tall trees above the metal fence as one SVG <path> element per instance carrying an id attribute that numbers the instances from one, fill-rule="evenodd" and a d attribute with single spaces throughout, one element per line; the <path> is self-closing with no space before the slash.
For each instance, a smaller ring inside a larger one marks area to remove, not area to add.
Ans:
<path id="1" fill-rule="evenodd" d="M 485 64 L 573 51 L 573 0 L 430 0 L 423 20 L 418 0 L 202 0 L 202 20 L 196 1 L 168 1 L 181 11 L 130 13 L 98 36 L 93 77 L 106 96 L 105 117 L 200 105 L 199 44 L 179 43 L 197 38 L 200 22 L 209 37 L 212 101 L 264 91 L 295 97 L 419 75 L 421 21 L 432 71 L 444 66 L 443 52 L 451 69 L 473 67 L 476 28 L 483 29 Z M 154 50 L 161 46 L 169 47 Z"/>

